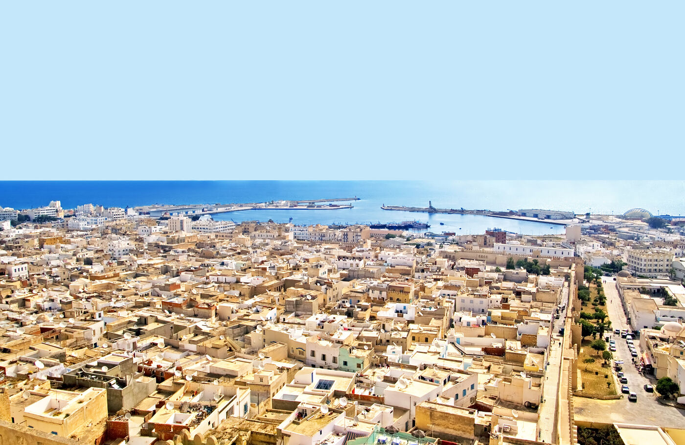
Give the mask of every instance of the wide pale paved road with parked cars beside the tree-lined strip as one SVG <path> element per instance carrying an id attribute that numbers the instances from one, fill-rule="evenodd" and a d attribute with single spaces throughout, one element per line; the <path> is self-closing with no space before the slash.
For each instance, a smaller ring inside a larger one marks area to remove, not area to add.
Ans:
<path id="1" fill-rule="evenodd" d="M 594 400 L 590 398 L 574 397 L 575 418 L 578 420 L 606 419 L 611 422 L 626 422 L 634 424 L 648 424 L 685 428 L 685 411 L 656 400 L 656 393 L 645 392 L 644 385 L 656 385 L 656 380 L 650 380 L 641 375 L 632 364 L 630 350 L 621 335 L 613 335 L 614 329 L 629 329 L 623 304 L 616 290 L 616 282 L 604 277 L 604 293 L 607 298 L 607 313 L 612 324 L 612 339 L 616 341 L 614 360 L 623 360 L 623 372 L 628 379 L 628 387 L 638 395 L 637 402 L 629 402 L 627 396 L 620 400 Z M 607 334 L 605 334 L 606 336 Z M 638 341 L 635 342 L 638 354 L 641 355 Z M 639 358 L 639 357 L 638 357 Z M 619 383 L 620 385 L 620 383 Z M 616 388 L 619 392 L 621 387 Z M 605 421 L 606 421 L 605 420 Z"/>

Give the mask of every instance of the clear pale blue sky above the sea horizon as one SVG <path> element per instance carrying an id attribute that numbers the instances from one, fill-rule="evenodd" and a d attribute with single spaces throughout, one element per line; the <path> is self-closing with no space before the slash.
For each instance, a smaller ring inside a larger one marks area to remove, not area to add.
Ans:
<path id="1" fill-rule="evenodd" d="M 3 179 L 681 178 L 683 16 L 682 0 L 5 2 Z"/>

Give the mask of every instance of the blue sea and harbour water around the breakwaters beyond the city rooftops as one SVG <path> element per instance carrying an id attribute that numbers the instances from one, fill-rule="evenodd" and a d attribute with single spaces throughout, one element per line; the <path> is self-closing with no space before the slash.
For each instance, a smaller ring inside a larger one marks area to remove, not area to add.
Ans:
<path id="1" fill-rule="evenodd" d="M 408 165 L 408 171 L 411 167 Z M 398 172 L 401 174 L 402 172 Z M 443 173 L 441 173 L 443 174 Z M 646 208 L 654 215 L 685 213 L 685 181 L 4 181 L 0 206 L 32 208 L 60 200 L 79 204 L 142 206 L 211 204 L 359 197 L 339 210 L 240 211 L 212 215 L 236 222 L 273 219 L 293 224 L 369 224 L 419 220 L 432 232 L 482 233 L 501 228 L 524 234 L 553 234 L 563 226 L 477 215 L 384 211 L 383 204 L 506 211 L 543 208 L 619 215 Z M 347 204 L 347 203 L 343 203 Z M 443 225 L 440 225 L 440 222 Z"/>

